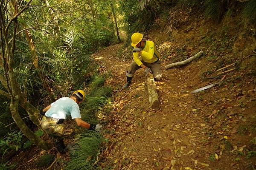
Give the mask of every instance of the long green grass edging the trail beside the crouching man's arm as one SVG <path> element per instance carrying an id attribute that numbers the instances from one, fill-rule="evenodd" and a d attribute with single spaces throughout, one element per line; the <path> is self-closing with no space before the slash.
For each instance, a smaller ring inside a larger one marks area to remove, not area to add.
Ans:
<path id="1" fill-rule="evenodd" d="M 89 85 L 86 99 L 81 105 L 82 119 L 88 123 L 101 124 L 98 120 L 99 113 L 104 113 L 105 106 L 111 100 L 111 87 L 104 86 L 104 76 L 95 76 Z M 101 133 L 84 130 L 81 137 L 71 151 L 70 161 L 65 170 L 95 170 L 97 156 L 103 147 L 104 137 Z"/>

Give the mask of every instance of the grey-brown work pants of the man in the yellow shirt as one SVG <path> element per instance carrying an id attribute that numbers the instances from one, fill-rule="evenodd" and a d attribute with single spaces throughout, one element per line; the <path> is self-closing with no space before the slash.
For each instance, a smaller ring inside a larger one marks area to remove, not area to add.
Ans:
<path id="1" fill-rule="evenodd" d="M 148 63 L 144 62 L 143 59 L 140 59 L 140 61 L 150 68 L 150 70 L 153 72 L 154 78 L 156 81 L 160 81 L 162 79 L 162 67 L 160 64 L 160 61 L 154 63 Z M 128 68 L 128 71 L 126 72 L 127 77 L 133 77 L 136 70 L 140 69 L 141 67 L 137 65 L 136 62 L 132 61 L 130 67 Z"/>

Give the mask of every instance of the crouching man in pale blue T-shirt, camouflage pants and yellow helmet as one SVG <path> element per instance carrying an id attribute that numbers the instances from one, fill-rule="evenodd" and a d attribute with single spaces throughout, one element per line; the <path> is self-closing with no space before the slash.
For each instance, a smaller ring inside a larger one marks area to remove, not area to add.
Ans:
<path id="1" fill-rule="evenodd" d="M 67 116 L 71 116 L 72 119 L 75 119 L 78 126 L 88 130 L 100 131 L 102 129 L 102 125 L 89 124 L 81 119 L 78 104 L 83 102 L 84 99 L 84 91 L 78 90 L 71 97 L 62 97 L 43 109 L 45 114 L 41 121 L 41 128 L 55 138 L 54 144 L 60 153 L 66 152 L 63 138 L 76 134 L 75 129 L 63 124 Z"/>

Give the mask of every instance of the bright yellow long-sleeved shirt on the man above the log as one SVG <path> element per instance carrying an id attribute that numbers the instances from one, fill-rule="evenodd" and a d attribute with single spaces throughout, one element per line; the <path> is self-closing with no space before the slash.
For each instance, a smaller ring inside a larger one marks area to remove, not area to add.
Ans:
<path id="1" fill-rule="evenodd" d="M 142 49 L 142 53 L 137 51 L 133 53 L 134 62 L 137 63 L 137 65 L 142 65 L 142 62 L 140 61 L 139 56 L 143 59 L 144 62 L 153 63 L 156 62 L 159 58 L 159 54 L 157 53 L 157 50 L 154 46 L 153 41 L 145 41 L 145 46 Z"/>

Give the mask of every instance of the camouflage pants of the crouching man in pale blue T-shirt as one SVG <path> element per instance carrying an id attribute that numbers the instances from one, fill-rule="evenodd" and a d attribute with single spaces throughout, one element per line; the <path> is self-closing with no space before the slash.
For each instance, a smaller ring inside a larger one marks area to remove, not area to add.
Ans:
<path id="1" fill-rule="evenodd" d="M 51 136 L 67 138 L 76 134 L 75 129 L 67 128 L 63 124 L 56 124 L 58 119 L 44 116 L 41 120 L 42 129 Z"/>

